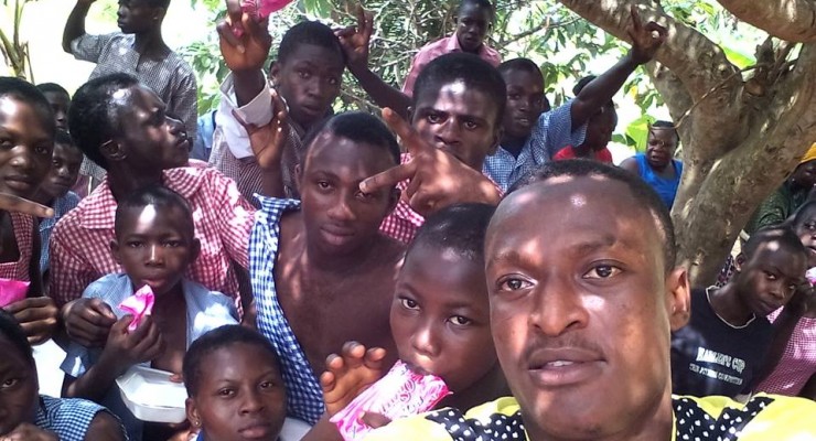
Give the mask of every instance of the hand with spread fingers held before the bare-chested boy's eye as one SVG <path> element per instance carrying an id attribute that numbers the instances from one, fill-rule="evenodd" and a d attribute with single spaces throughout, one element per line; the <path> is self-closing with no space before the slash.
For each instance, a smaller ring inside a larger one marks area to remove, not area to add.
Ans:
<path id="1" fill-rule="evenodd" d="M 411 160 L 388 169 L 359 183 L 359 190 L 371 193 L 388 189 L 404 180 L 410 183 L 402 198 L 417 213 L 428 216 L 451 204 L 481 202 L 497 204 L 501 193 L 481 172 L 471 169 L 454 155 L 434 148 L 419 136 L 394 110 L 383 109 L 383 119 L 402 140 Z"/>

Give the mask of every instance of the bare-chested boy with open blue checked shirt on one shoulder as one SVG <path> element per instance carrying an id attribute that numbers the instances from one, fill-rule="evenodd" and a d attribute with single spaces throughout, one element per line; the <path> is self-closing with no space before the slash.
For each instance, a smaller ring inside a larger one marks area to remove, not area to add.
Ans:
<path id="1" fill-rule="evenodd" d="M 313 424 L 323 415 L 318 375 L 329 354 L 350 340 L 394 354 L 388 311 L 404 248 L 378 232 L 399 193 L 359 190 L 399 161 L 385 125 L 341 114 L 304 143 L 302 202 L 260 198 L 249 272 L 258 331 L 280 356 L 288 416 Z"/>

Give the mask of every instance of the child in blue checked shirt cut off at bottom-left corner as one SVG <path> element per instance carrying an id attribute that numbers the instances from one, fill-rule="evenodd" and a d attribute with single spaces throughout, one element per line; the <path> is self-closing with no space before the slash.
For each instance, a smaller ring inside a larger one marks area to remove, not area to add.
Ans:
<path id="1" fill-rule="evenodd" d="M 20 324 L 0 310 L 0 438 L 120 441 L 121 424 L 104 407 L 78 398 L 39 395 L 36 364 Z"/>

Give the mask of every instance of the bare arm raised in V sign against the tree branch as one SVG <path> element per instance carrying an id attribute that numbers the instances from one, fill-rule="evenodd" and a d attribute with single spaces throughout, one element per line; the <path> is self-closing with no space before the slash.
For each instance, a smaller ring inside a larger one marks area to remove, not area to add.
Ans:
<path id="1" fill-rule="evenodd" d="M 655 22 L 643 24 L 632 7 L 632 25 L 629 29 L 632 49 L 609 71 L 590 82 L 572 100 L 570 109 L 572 130 L 583 126 L 604 104 L 609 103 L 626 78 L 641 64 L 649 62 L 666 40 L 666 29 Z"/>

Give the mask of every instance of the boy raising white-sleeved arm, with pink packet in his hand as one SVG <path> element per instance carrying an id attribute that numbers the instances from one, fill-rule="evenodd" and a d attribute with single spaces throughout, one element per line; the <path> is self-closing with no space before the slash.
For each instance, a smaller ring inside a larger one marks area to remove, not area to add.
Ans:
<path id="1" fill-rule="evenodd" d="M 240 23 L 232 18 L 233 23 Z M 244 197 L 258 206 L 256 193 L 262 191 L 264 170 L 249 146 L 247 130 L 233 116 L 262 126 L 277 119 L 270 106 L 271 90 L 261 73 L 269 54 L 271 37 L 261 25 L 249 21 L 253 29 L 236 41 L 232 28 L 218 26 L 222 54 L 232 71 L 222 85 L 222 101 L 216 114 L 216 133 L 210 163 L 238 183 Z M 258 35 L 257 37 L 255 35 Z M 262 42 L 262 44 L 253 44 Z M 240 52 L 238 45 L 245 50 Z M 296 24 L 280 42 L 278 57 L 269 68 L 269 78 L 277 97 L 286 101 L 281 137 L 276 149 L 282 151 L 283 194 L 298 197 L 294 166 L 303 155 L 303 135 L 331 114 L 332 104 L 340 95 L 343 77 L 343 50 L 332 30 L 316 21 Z M 282 109 L 280 109 L 282 110 Z"/>

